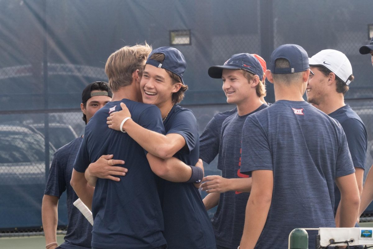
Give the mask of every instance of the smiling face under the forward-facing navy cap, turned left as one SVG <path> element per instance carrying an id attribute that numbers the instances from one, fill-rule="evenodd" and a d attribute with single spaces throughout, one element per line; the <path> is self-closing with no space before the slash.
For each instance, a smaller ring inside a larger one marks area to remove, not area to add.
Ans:
<path id="1" fill-rule="evenodd" d="M 246 77 L 236 69 L 223 69 L 222 73 L 223 91 L 227 97 L 227 103 L 239 105 L 248 97 L 256 95 L 256 88 L 251 87 L 251 84 Z"/>

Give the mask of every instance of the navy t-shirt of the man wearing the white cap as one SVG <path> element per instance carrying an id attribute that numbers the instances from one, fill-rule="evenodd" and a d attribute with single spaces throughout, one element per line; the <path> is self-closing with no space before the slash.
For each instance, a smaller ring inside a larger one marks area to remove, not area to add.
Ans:
<path id="1" fill-rule="evenodd" d="M 347 137 L 348 149 L 351 153 L 352 162 L 355 168 L 365 168 L 365 160 L 367 155 L 367 130 L 361 118 L 354 112 L 350 106 L 342 106 L 336 111 L 329 113 L 329 116 L 337 119 Z M 334 185 L 335 206 L 334 211 L 337 211 L 338 204 L 341 201 L 341 192 Z"/>

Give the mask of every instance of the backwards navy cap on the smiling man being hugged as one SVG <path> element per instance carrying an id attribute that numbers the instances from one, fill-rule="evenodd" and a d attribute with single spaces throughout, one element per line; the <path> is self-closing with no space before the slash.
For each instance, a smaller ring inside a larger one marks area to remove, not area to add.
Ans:
<path id="1" fill-rule="evenodd" d="M 150 57 L 155 53 L 160 53 L 164 55 L 163 62 L 150 59 Z M 157 68 L 163 68 L 170 72 L 173 72 L 181 78 L 181 81 L 184 84 L 183 74 L 186 68 L 186 61 L 184 55 L 179 50 L 173 47 L 159 47 L 157 49 L 154 49 L 150 53 L 148 60 L 145 64 L 150 64 Z"/>

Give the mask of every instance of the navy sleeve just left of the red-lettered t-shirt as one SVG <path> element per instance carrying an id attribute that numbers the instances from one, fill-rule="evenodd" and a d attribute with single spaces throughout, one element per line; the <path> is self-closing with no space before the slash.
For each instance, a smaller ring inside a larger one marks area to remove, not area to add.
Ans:
<path id="1" fill-rule="evenodd" d="M 222 124 L 226 118 L 237 113 L 237 108 L 216 113 L 206 125 L 200 136 L 200 158 L 210 164 L 219 153 L 220 133 Z"/>

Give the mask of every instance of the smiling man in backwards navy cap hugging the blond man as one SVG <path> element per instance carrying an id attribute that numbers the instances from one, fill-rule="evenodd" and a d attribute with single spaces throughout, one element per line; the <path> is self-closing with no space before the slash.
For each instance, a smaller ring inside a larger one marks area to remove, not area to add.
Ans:
<path id="1" fill-rule="evenodd" d="M 179 50 L 160 47 L 149 55 L 141 77 L 142 101 L 159 108 L 165 135 L 141 127 L 135 119 L 128 119 L 135 112 L 123 104 L 122 111 L 110 114 L 107 119 L 109 128 L 125 131 L 140 144 L 148 152 L 148 160 L 156 156 L 162 159 L 178 158 L 187 165 L 195 165 L 198 162 L 197 119 L 192 111 L 177 105 L 188 88 L 183 80 L 185 68 L 186 61 Z M 193 185 L 200 183 L 203 172 L 195 166 L 191 166 L 191 169 L 191 177 L 186 183 L 168 180 L 159 182 L 164 238 L 169 249 L 215 249 L 215 237 L 209 216 L 198 189 Z M 198 171 L 201 174 L 197 174 Z"/>

